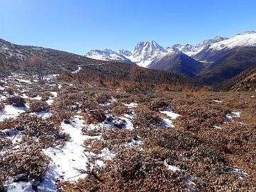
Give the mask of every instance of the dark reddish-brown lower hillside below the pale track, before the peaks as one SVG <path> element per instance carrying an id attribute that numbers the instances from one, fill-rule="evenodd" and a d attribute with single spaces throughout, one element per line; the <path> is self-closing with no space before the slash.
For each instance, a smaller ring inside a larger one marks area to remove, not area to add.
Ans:
<path id="1" fill-rule="evenodd" d="M 135 82 L 169 84 L 177 87 L 200 87 L 201 84 L 184 75 L 171 73 L 169 71 L 142 68 L 129 63 L 102 63 L 101 65 L 83 65 L 79 73 L 63 72 L 60 74 L 62 80 L 69 81 L 97 81 L 111 82 Z"/>

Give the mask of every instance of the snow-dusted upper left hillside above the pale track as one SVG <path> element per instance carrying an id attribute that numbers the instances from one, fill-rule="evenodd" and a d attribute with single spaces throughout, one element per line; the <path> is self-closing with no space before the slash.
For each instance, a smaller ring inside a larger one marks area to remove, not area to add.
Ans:
<path id="1" fill-rule="evenodd" d="M 4 73 L 4 70 L 6 73 L 23 71 L 28 65 L 28 60 L 35 56 L 44 60 L 47 68 L 46 73 L 59 73 L 62 70 L 75 71 L 78 70 L 78 65 L 102 63 L 100 60 L 65 51 L 36 46 L 20 46 L 0 39 L 0 60 L 4 65 L 4 67 L 0 66 L 0 68 L 2 67 L 0 73 Z M 106 62 L 103 61 L 103 63 Z"/>

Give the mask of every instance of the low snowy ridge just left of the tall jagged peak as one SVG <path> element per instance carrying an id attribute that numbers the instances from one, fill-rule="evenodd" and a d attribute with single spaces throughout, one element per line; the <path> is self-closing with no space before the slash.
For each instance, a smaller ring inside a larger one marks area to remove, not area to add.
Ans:
<path id="1" fill-rule="evenodd" d="M 88 58 L 93 58 L 97 60 L 119 60 L 127 63 L 132 63 L 129 58 L 126 58 L 130 55 L 131 52 L 129 50 L 119 50 L 118 52 L 105 49 L 105 50 L 90 50 L 85 56 Z"/>

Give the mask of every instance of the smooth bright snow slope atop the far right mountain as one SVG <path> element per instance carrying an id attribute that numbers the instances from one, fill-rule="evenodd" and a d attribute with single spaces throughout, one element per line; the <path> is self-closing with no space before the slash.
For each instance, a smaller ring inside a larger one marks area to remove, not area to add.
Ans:
<path id="1" fill-rule="evenodd" d="M 243 46 L 256 46 L 256 31 L 246 31 L 245 33 L 239 33 L 233 38 L 229 38 L 218 43 L 213 43 L 209 49 L 223 50 Z"/>

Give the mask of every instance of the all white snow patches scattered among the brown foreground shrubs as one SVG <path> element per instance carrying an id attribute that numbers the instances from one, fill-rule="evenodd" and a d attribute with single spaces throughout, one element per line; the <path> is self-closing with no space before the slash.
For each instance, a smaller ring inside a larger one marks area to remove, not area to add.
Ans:
<path id="1" fill-rule="evenodd" d="M 26 80 L 20 80 L 19 82 L 26 82 Z M 62 85 L 58 84 L 55 85 L 58 86 L 59 89 L 62 88 Z M 70 86 L 73 86 L 70 84 Z M 4 90 L 6 87 L 0 87 L 0 89 Z M 52 105 L 55 98 L 58 97 L 58 92 L 50 92 L 51 96 L 46 101 L 48 105 Z M 0 95 L 0 100 L 6 100 L 6 97 L 9 97 L 9 95 Z M 23 98 L 26 98 L 30 100 L 31 98 L 27 95 L 22 95 Z M 38 95 L 37 97 L 33 97 L 33 100 L 41 100 L 42 97 Z M 211 99 L 212 100 L 212 99 Z M 220 105 L 218 103 L 223 102 L 223 100 L 212 100 L 213 102 L 217 102 L 216 105 Z M 109 101 L 103 103 L 101 106 L 107 106 L 111 105 L 114 102 L 117 102 L 114 98 L 110 99 Z M 110 122 L 107 121 L 107 118 L 104 122 L 101 122 L 99 124 L 85 124 L 85 121 L 82 116 L 75 115 L 71 118 L 70 124 L 65 124 L 64 122 L 61 123 L 60 128 L 62 129 L 62 132 L 69 134 L 70 139 L 65 142 L 64 146 L 55 146 L 43 149 L 44 154 L 46 154 L 48 157 L 50 157 L 50 165 L 48 171 L 46 171 L 46 174 L 43 176 L 43 181 L 39 183 L 39 181 L 20 181 L 15 182 L 13 179 L 10 179 L 9 181 L 6 181 L 6 185 L 8 188 L 8 191 L 21 191 L 21 192 L 34 192 L 32 186 L 38 186 L 38 191 L 57 191 L 56 187 L 56 181 L 78 181 L 79 178 L 84 178 L 87 176 L 86 169 L 87 169 L 87 163 L 88 158 L 90 156 L 93 156 L 95 154 L 92 154 L 91 152 L 85 151 L 84 142 L 87 139 L 99 139 L 102 140 L 102 136 L 95 136 L 90 137 L 87 135 L 82 134 L 82 129 L 86 126 L 88 129 L 99 129 L 99 128 L 105 128 L 105 129 L 111 129 L 114 127 L 114 123 L 119 123 L 119 121 L 124 122 L 124 126 L 122 126 L 122 129 L 132 130 L 134 129 L 132 124 L 132 118 L 136 116 L 134 112 L 134 107 L 137 107 L 136 102 L 132 103 L 123 103 L 123 105 L 127 106 L 130 113 L 129 114 L 122 114 L 120 117 L 113 117 L 113 120 Z M 22 112 L 26 112 L 29 105 L 26 105 L 26 107 L 14 107 L 12 105 L 5 105 L 4 111 L 0 113 L 0 121 L 3 121 L 6 118 L 11 117 L 18 117 L 19 114 Z M 164 127 L 174 127 L 173 121 L 174 119 L 177 119 L 181 115 L 174 113 L 174 111 L 171 108 L 166 108 L 165 110 L 159 111 L 160 114 L 162 114 L 163 118 L 163 124 L 159 128 Z M 33 113 L 31 113 L 33 114 Z M 36 113 L 38 116 L 45 118 L 50 117 L 54 114 L 54 112 L 39 112 Z M 110 114 L 112 115 L 112 114 Z M 227 114 L 227 118 L 233 121 L 234 118 L 238 118 L 241 116 L 240 112 L 230 112 Z M 221 127 L 218 127 L 217 125 L 214 125 L 213 128 L 215 129 L 222 129 Z M 2 132 L 8 133 L 6 135 L 7 138 L 11 139 L 13 144 L 17 144 L 18 142 L 21 142 L 21 139 L 23 137 L 22 134 L 19 134 L 18 132 L 14 132 L 13 129 L 4 129 Z M 18 146 L 18 145 L 17 145 Z M 134 147 L 139 146 L 143 147 L 143 141 L 142 137 L 134 137 L 130 139 L 128 142 L 124 144 L 124 146 Z M 97 166 L 104 166 L 105 165 L 105 159 L 112 159 L 114 157 L 114 154 L 112 152 L 105 148 L 101 151 L 101 154 L 98 155 L 100 159 L 96 161 Z M 173 172 L 183 172 L 186 171 L 183 170 L 183 167 L 176 166 L 174 164 L 169 165 L 167 164 L 167 161 L 164 161 L 164 166 L 166 166 L 166 169 L 169 169 Z M 181 169 L 182 168 L 182 169 Z M 244 171 L 240 171 L 240 169 L 229 169 L 230 171 L 228 174 L 235 174 L 238 176 L 238 178 L 244 178 L 245 176 L 248 176 L 247 173 Z M 193 181 L 188 179 L 188 183 L 192 183 Z M 194 183 L 196 185 L 196 183 Z"/>

